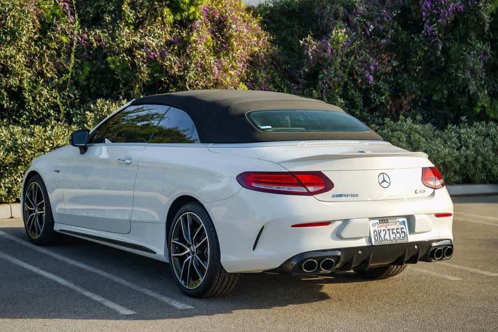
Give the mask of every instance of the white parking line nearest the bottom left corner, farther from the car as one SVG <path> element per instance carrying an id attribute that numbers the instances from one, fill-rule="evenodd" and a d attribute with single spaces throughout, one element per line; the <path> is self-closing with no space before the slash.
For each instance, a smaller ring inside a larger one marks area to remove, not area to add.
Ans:
<path id="1" fill-rule="evenodd" d="M 58 277 L 56 276 L 55 274 L 52 274 L 52 273 L 49 273 L 47 271 L 43 271 L 33 265 L 29 265 L 28 263 L 24 263 L 23 261 L 21 260 L 18 260 L 17 258 L 14 258 L 12 256 L 9 256 L 3 252 L 0 252 L 0 258 L 3 258 L 15 265 L 18 265 L 20 267 L 23 267 L 27 270 L 30 270 L 31 272 L 34 272 L 34 273 L 37 273 L 41 276 L 44 276 L 45 278 L 48 278 L 50 280 L 53 280 L 59 284 L 61 284 L 62 286 L 66 286 L 67 288 L 70 288 L 74 291 L 77 291 L 78 293 L 114 310 L 114 311 L 117 311 L 118 313 L 120 313 L 121 315 L 133 315 L 133 314 L 136 314 L 134 311 L 131 311 L 129 309 L 126 309 L 122 306 L 120 306 L 119 304 L 116 304 L 112 301 L 109 301 L 107 299 L 104 299 L 102 296 L 99 296 L 95 293 L 92 293 L 90 291 L 87 291 L 86 289 L 83 289 L 79 286 L 76 286 L 75 284 L 73 284 L 72 282 L 69 282 L 65 279 L 62 279 L 61 277 Z"/>

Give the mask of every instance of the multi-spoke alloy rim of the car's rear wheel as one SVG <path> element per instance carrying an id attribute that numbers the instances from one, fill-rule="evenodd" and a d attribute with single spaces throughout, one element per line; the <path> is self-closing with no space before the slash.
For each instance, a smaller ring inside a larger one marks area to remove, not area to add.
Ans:
<path id="1" fill-rule="evenodd" d="M 170 250 L 171 264 L 180 283 L 188 289 L 197 288 L 209 266 L 209 239 L 199 216 L 186 212 L 175 221 Z"/>

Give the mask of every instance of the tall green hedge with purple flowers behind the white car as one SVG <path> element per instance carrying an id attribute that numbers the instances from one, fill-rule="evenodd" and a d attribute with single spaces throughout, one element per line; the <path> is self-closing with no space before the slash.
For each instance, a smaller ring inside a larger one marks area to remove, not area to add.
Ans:
<path id="1" fill-rule="evenodd" d="M 0 202 L 33 157 L 124 100 L 212 88 L 337 104 L 427 152 L 450 184 L 496 183 L 497 124 L 483 121 L 498 118 L 497 12 L 496 0 L 0 0 Z"/>

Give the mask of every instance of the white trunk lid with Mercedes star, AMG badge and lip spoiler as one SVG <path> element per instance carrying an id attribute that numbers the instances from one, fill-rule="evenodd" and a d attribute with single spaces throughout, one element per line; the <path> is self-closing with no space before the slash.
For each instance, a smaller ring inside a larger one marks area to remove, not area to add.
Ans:
<path id="1" fill-rule="evenodd" d="M 416 199 L 434 192 L 421 181 L 422 167 L 433 166 L 422 152 L 379 141 L 266 144 L 214 144 L 210 150 L 268 160 L 291 172 L 321 171 L 334 188 L 314 197 L 326 202 Z"/>

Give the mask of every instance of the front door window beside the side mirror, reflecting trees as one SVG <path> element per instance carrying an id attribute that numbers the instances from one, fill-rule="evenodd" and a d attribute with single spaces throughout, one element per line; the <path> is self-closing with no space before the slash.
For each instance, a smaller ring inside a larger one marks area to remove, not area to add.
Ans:
<path id="1" fill-rule="evenodd" d="M 130 106 L 92 133 L 89 143 L 146 143 L 169 106 Z"/>

